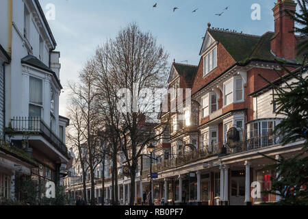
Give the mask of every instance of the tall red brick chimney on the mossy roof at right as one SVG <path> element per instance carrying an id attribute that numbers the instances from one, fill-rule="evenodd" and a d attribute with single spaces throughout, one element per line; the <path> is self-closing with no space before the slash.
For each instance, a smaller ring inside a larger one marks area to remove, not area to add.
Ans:
<path id="1" fill-rule="evenodd" d="M 273 8 L 275 19 L 275 35 L 270 47 L 277 57 L 293 61 L 296 59 L 296 38 L 294 33 L 294 20 L 287 15 L 285 10 L 296 11 L 296 3 L 293 0 L 278 0 Z"/>

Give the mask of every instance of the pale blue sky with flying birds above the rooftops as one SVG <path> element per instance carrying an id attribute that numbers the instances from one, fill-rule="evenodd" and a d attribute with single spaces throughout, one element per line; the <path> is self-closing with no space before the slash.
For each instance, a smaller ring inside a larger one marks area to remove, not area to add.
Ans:
<path id="1" fill-rule="evenodd" d="M 274 31 L 274 1 L 277 0 L 40 0 L 45 13 L 50 12 L 49 4 L 55 9 L 49 25 L 57 42 L 56 51 L 61 52 L 60 81 L 64 92 L 60 95 L 60 114 L 66 116 L 68 81 L 77 80 L 94 50 L 114 38 L 121 27 L 135 22 L 142 31 L 151 31 L 157 43 L 168 51 L 170 65 L 174 59 L 198 65 L 207 23 L 262 35 Z M 155 3 L 157 8 L 153 8 Z M 255 3 L 260 6 L 259 20 L 251 18 Z M 175 7 L 179 9 L 172 12 Z M 221 16 L 216 15 L 221 12 Z"/>

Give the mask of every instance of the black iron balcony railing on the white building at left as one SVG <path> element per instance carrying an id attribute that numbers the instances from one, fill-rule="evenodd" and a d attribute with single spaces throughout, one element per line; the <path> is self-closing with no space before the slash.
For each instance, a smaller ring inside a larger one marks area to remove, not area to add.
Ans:
<path id="1" fill-rule="evenodd" d="M 9 132 L 23 135 L 40 134 L 62 154 L 68 156 L 66 145 L 40 118 L 17 117 L 11 119 L 12 130 Z"/>

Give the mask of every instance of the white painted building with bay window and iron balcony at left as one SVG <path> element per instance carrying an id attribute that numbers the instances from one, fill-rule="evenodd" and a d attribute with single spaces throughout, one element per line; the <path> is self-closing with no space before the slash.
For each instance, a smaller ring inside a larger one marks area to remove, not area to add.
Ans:
<path id="1" fill-rule="evenodd" d="M 3 122 L 8 128 L 3 137 L 10 146 L 31 153 L 37 164 L 31 166 L 32 179 L 59 185 L 69 160 L 65 145 L 69 120 L 59 115 L 61 65 L 55 38 L 38 0 L 0 1 L 0 29 L 0 44 L 11 60 L 1 70 Z"/>

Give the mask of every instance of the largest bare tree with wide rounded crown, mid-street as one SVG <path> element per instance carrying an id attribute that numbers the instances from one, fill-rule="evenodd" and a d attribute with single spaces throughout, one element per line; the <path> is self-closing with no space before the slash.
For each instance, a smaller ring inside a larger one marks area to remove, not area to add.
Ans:
<path id="1" fill-rule="evenodd" d="M 129 166 L 129 203 L 133 205 L 138 159 L 144 146 L 162 134 L 153 132 L 156 118 L 153 113 L 153 89 L 165 86 L 168 55 L 149 32 L 140 31 L 132 23 L 121 29 L 114 40 L 109 40 L 104 47 L 99 48 L 96 57 L 103 57 L 103 61 L 97 60 L 103 63 L 103 72 L 107 75 L 104 77 L 112 85 L 107 90 L 113 96 L 110 99 L 113 115 L 120 115 L 112 131 L 120 138 L 119 144 Z M 101 77 L 101 72 L 101 69 L 97 70 L 98 77 Z M 119 93 L 121 88 L 125 92 Z"/>

